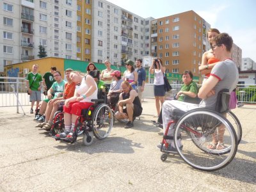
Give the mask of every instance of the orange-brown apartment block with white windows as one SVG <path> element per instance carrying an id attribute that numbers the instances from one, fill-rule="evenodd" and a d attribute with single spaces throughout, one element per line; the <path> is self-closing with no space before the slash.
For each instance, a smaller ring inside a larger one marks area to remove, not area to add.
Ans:
<path id="1" fill-rule="evenodd" d="M 210 48 L 206 31 L 210 25 L 193 11 L 151 22 L 151 54 L 161 58 L 168 72 L 191 70 L 199 76 L 202 53 Z"/>

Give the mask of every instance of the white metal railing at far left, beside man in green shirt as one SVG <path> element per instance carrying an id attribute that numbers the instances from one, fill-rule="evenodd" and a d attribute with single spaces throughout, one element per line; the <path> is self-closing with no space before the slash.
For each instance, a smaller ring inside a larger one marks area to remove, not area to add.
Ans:
<path id="1" fill-rule="evenodd" d="M 19 106 L 22 108 L 30 105 L 27 90 L 25 78 L 0 77 L 0 108 L 16 106 L 19 113 Z M 44 94 L 41 98 L 44 98 Z"/>

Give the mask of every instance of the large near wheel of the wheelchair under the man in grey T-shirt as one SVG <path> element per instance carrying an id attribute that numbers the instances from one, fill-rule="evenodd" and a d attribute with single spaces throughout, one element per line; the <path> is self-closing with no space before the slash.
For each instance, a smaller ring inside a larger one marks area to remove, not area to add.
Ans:
<path id="1" fill-rule="evenodd" d="M 182 149 L 179 148 L 179 137 Z M 212 137 L 223 137 L 225 148 L 210 149 Z M 174 142 L 182 159 L 193 168 L 215 171 L 227 166 L 237 152 L 237 136 L 227 118 L 209 109 L 194 109 L 177 122 Z"/>

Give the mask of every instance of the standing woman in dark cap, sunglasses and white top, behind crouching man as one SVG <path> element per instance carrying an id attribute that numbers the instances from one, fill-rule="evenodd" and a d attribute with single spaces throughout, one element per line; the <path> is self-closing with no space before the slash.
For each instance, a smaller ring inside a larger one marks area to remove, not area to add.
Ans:
<path id="1" fill-rule="evenodd" d="M 137 90 L 138 73 L 134 69 L 134 62 L 127 60 L 125 62 L 127 70 L 124 72 L 123 80 L 128 81 L 134 90 Z"/>

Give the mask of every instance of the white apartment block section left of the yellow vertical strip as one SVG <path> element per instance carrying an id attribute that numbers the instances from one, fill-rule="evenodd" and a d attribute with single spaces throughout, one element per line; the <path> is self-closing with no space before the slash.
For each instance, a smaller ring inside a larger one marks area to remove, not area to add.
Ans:
<path id="1" fill-rule="evenodd" d="M 38 58 L 39 45 L 47 56 L 77 58 L 76 1 L 1 1 L 0 8 L 0 72 Z"/>

